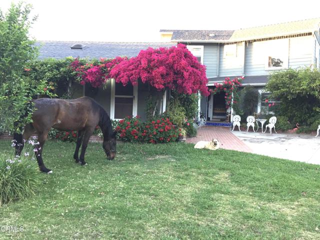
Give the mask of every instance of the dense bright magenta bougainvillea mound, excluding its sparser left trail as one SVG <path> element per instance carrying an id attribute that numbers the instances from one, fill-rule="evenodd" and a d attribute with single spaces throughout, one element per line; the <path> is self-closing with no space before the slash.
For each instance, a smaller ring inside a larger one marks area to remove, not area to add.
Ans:
<path id="1" fill-rule="evenodd" d="M 168 87 L 185 94 L 198 90 L 203 95 L 209 94 L 205 66 L 181 43 L 170 48 L 141 50 L 136 57 L 114 65 L 110 76 L 123 85 L 128 82 L 135 85 L 141 79 L 158 90 Z"/>

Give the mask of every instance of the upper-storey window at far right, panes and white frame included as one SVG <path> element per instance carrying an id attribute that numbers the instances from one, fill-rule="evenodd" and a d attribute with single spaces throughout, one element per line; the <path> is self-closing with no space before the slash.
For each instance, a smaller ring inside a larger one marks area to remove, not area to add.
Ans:
<path id="1" fill-rule="evenodd" d="M 276 39 L 265 42 L 266 70 L 283 69 L 288 67 L 288 39 Z"/>

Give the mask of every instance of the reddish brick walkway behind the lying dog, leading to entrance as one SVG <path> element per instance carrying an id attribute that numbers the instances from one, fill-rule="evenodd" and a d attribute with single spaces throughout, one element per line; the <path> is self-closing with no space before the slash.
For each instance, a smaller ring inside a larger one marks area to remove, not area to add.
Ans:
<path id="1" fill-rule="evenodd" d="M 252 152 L 242 140 L 235 136 L 228 127 L 222 126 L 202 126 L 198 128 L 196 137 L 187 137 L 187 143 L 196 143 L 197 141 L 211 141 L 217 138 L 220 147 L 229 150 Z"/>

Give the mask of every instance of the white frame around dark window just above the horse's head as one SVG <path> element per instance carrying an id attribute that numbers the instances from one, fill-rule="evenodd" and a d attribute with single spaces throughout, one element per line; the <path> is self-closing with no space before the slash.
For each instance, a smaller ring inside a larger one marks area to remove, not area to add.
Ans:
<path id="1" fill-rule="evenodd" d="M 115 110 L 115 97 L 130 97 L 133 98 L 132 105 L 132 116 L 137 115 L 137 105 L 138 105 L 138 86 L 133 86 L 133 95 L 115 95 L 115 80 L 112 78 L 111 80 L 111 100 L 110 100 L 110 118 L 113 120 L 120 120 L 119 118 L 114 118 L 114 110 Z"/>

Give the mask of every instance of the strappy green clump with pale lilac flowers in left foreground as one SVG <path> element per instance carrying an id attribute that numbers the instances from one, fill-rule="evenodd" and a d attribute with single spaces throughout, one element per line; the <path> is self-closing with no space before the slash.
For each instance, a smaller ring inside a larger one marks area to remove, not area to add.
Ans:
<path id="1" fill-rule="evenodd" d="M 35 144 L 34 140 L 31 142 Z M 39 190 L 41 176 L 34 160 L 32 144 L 25 144 L 20 157 L 0 154 L 0 206 L 24 199 Z"/>

